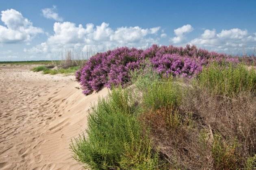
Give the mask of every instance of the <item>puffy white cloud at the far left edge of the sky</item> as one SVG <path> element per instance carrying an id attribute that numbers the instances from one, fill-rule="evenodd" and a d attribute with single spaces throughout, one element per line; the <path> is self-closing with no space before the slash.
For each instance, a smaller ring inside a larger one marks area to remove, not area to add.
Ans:
<path id="1" fill-rule="evenodd" d="M 34 27 L 31 21 L 14 9 L 1 11 L 1 20 L 5 26 L 0 25 L 0 43 L 28 42 L 43 33 L 41 28 Z"/>

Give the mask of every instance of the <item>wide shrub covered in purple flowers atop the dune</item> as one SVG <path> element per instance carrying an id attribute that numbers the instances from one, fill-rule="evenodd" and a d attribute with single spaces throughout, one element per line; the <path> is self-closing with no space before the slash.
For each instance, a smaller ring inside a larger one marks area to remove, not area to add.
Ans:
<path id="1" fill-rule="evenodd" d="M 145 50 L 121 47 L 92 56 L 85 66 L 76 72 L 76 79 L 80 81 L 85 95 L 99 91 L 104 86 L 124 86 L 130 82 L 130 71 L 140 69 L 145 60 L 150 61 L 158 74 L 189 78 L 201 72 L 202 66 L 207 66 L 213 61 L 240 62 L 238 57 L 209 52 L 190 45 L 184 48 L 152 45 Z"/>

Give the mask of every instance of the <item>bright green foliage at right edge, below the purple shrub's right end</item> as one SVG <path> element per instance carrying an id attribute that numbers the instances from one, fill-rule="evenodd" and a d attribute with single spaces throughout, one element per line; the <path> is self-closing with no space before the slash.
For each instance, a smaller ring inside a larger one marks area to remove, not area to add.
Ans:
<path id="1" fill-rule="evenodd" d="M 247 66 L 211 64 L 198 75 L 195 85 L 208 88 L 212 94 L 233 96 L 241 91 L 256 92 L 256 70 Z"/>

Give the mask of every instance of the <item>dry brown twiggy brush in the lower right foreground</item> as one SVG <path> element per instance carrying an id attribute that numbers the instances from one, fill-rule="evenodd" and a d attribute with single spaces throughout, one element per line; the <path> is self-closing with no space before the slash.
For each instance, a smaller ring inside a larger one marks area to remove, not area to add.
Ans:
<path id="1" fill-rule="evenodd" d="M 140 120 L 169 168 L 231 170 L 245 168 L 256 153 L 255 106 L 247 92 L 226 98 L 193 88 L 177 108 L 152 110 Z"/>

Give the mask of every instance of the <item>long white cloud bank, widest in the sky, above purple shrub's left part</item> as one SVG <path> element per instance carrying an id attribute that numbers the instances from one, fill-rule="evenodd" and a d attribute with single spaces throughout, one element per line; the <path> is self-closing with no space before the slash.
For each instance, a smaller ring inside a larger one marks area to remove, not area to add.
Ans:
<path id="1" fill-rule="evenodd" d="M 65 48 L 81 48 L 83 51 L 95 52 L 113 49 L 115 47 L 128 46 L 146 48 L 157 43 L 156 36 L 160 27 L 140 28 L 120 27 L 113 30 L 108 23 L 94 26 L 92 23 L 76 26 L 75 23 L 54 23 L 54 34 L 47 41 L 30 49 L 24 49 L 28 53 L 54 53 Z"/>

